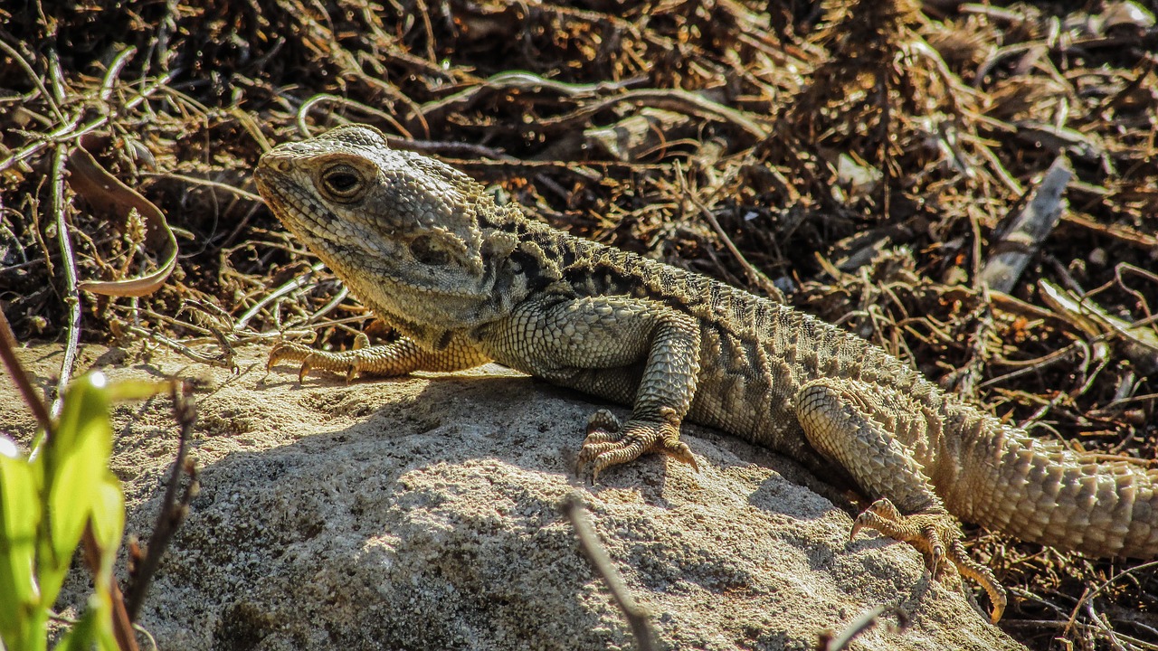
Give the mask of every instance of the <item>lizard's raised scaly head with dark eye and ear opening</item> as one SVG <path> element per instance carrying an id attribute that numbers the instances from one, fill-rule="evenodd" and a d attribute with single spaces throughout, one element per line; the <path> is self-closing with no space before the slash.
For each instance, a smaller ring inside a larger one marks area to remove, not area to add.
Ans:
<path id="1" fill-rule="evenodd" d="M 479 224 L 481 213 L 500 212 L 479 183 L 440 161 L 390 149 L 369 126 L 279 145 L 254 176 L 283 224 L 359 298 L 388 314 L 467 324 L 463 308 L 483 309 L 492 295 L 494 251 L 513 246 Z"/>

